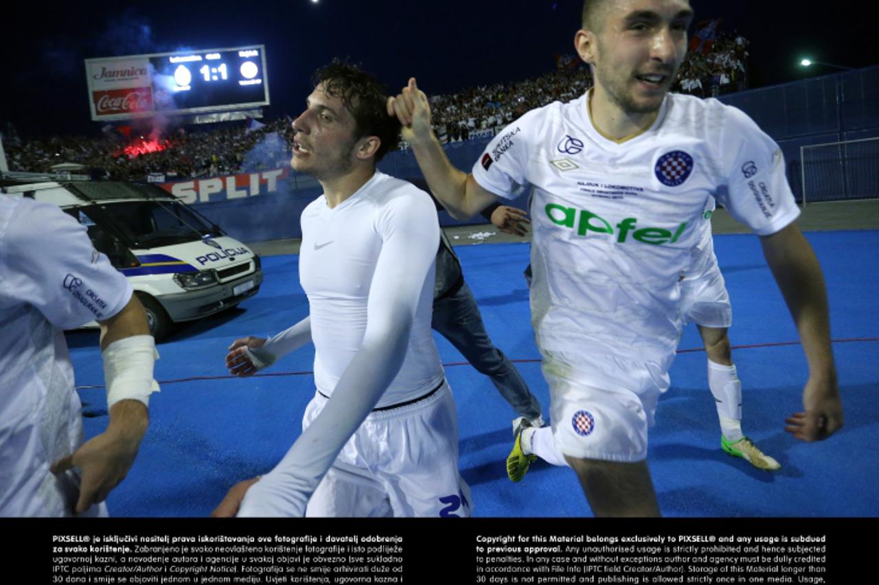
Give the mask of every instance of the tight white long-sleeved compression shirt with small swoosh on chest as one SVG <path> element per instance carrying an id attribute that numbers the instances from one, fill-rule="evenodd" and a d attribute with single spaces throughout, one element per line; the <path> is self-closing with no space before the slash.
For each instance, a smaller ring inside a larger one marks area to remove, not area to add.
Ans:
<path id="1" fill-rule="evenodd" d="M 272 338 L 315 343 L 318 392 L 330 397 L 238 516 L 302 516 L 338 452 L 376 407 L 410 401 L 443 378 L 430 329 L 439 225 L 430 197 L 376 172 L 340 205 L 302 213 L 300 281 L 309 318 Z"/>

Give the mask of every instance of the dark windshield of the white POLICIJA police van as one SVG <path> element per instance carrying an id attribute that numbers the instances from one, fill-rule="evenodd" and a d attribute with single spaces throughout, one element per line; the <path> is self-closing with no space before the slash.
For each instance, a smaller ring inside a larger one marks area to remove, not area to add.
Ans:
<path id="1" fill-rule="evenodd" d="M 205 235 L 221 235 L 214 233 L 204 220 L 176 201 L 122 201 L 97 207 L 103 219 L 111 221 L 113 227 L 142 248 L 193 242 Z M 97 217 L 92 219 L 98 220 Z"/>

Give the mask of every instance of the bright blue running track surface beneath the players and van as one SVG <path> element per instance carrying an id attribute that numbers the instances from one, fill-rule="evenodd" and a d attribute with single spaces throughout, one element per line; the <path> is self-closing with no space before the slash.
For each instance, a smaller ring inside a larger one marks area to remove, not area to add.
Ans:
<path id="1" fill-rule="evenodd" d="M 803 444 L 784 432 L 801 408 L 803 350 L 781 294 L 752 235 L 716 236 L 733 303 L 730 339 L 744 384 L 745 433 L 781 470 L 766 473 L 720 449 L 705 354 L 686 330 L 672 366 L 672 388 L 650 434 L 650 469 L 665 516 L 879 516 L 879 232 L 821 232 L 808 238 L 825 271 L 833 349 L 846 426 L 829 441 Z M 522 270 L 527 244 L 457 249 L 494 342 L 517 362 L 548 416 Z M 159 346 L 141 453 L 108 504 L 113 516 L 207 516 L 237 480 L 264 473 L 299 435 L 314 393 L 309 347 L 256 378 L 234 379 L 223 366 L 237 336 L 270 335 L 300 320 L 308 304 L 297 256 L 265 257 L 258 295 L 225 314 L 180 328 Z M 103 370 L 94 332 L 68 334 L 86 433 L 106 424 Z M 538 462 L 525 480 L 506 479 L 512 409 L 490 381 L 437 336 L 458 405 L 461 472 L 476 516 L 584 516 L 585 497 L 568 469 Z"/>

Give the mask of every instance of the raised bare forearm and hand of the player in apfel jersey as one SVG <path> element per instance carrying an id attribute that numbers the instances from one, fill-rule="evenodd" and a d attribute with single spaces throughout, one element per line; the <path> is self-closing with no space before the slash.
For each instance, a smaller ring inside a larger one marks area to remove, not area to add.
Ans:
<path id="1" fill-rule="evenodd" d="M 418 89 L 415 77 L 410 78 L 409 85 L 397 97 L 388 98 L 388 114 L 403 124 L 403 140 L 410 143 L 433 195 L 454 218 L 467 220 L 498 199 L 448 160 L 433 134 L 431 106 L 425 92 Z"/>

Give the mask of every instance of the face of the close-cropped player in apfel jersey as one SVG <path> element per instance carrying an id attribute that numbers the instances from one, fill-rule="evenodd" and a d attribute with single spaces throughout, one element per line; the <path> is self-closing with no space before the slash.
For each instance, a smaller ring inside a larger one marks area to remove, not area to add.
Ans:
<path id="1" fill-rule="evenodd" d="M 596 85 L 623 112 L 655 112 L 686 54 L 688 0 L 607 2 L 596 16 Z"/>

